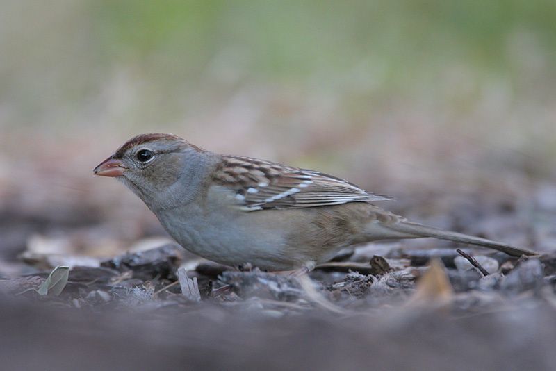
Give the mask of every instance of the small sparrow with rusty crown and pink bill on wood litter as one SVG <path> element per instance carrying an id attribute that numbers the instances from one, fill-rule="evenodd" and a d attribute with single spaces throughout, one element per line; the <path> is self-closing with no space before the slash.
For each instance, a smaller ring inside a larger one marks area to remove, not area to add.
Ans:
<path id="1" fill-rule="evenodd" d="M 224 265 L 310 272 L 365 242 L 439 238 L 511 256 L 528 249 L 411 222 L 349 181 L 247 156 L 217 154 L 165 133 L 137 135 L 93 170 L 122 181 L 190 252 Z"/>

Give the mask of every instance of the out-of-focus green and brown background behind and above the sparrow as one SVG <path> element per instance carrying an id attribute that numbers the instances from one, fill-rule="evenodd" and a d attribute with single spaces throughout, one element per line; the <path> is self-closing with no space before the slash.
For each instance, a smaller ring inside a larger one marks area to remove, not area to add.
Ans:
<path id="1" fill-rule="evenodd" d="M 165 236 L 131 192 L 92 176 L 145 132 L 554 248 L 555 19 L 552 0 L 4 0 L 0 272 L 22 270 L 24 252 L 83 263 Z"/>

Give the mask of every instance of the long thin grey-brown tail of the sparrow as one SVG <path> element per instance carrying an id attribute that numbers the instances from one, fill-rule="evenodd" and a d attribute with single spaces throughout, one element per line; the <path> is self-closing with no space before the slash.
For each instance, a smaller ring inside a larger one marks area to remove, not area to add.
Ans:
<path id="1" fill-rule="evenodd" d="M 449 240 L 454 242 L 468 243 L 471 245 L 489 247 L 490 249 L 495 249 L 500 252 L 505 252 L 506 254 L 512 256 L 539 255 L 539 253 L 537 252 L 532 252 L 531 250 L 528 249 L 521 249 L 518 247 L 507 245 L 502 242 L 487 240 L 486 238 L 468 236 L 463 233 L 444 231 L 443 229 L 434 228 L 432 226 L 425 226 L 423 224 L 418 224 L 418 223 L 398 222 L 395 224 L 390 224 L 388 228 L 393 229 L 396 232 L 407 233 L 411 236 L 416 236 L 416 237 L 434 237 L 434 238 L 440 238 L 441 240 Z"/>

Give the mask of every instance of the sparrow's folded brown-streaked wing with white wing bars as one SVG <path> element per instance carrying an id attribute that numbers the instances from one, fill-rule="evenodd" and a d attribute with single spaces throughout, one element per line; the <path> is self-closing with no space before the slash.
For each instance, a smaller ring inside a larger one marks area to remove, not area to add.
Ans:
<path id="1" fill-rule="evenodd" d="M 335 176 L 243 156 L 224 156 L 213 181 L 234 190 L 247 211 L 392 201 Z"/>

